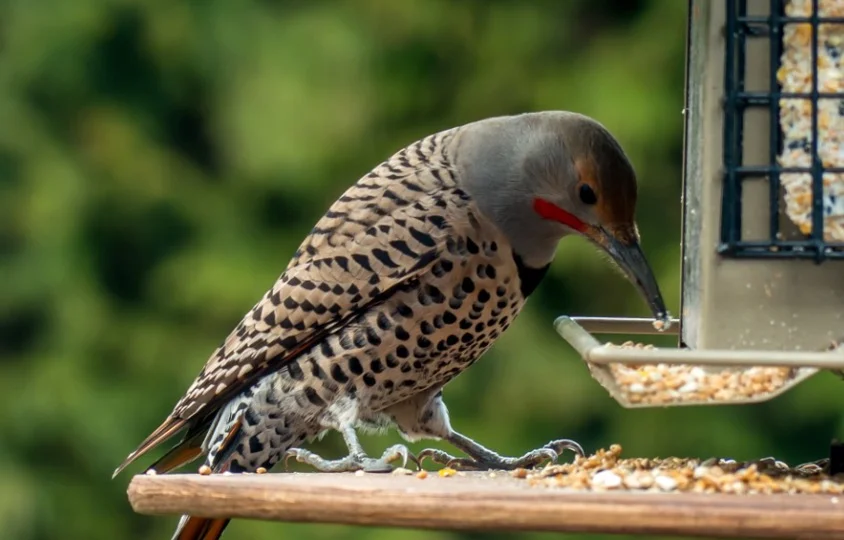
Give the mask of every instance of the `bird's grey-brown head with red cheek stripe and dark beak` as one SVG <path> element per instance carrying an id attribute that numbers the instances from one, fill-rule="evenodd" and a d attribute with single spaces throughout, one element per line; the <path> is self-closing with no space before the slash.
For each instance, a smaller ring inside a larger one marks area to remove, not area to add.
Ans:
<path id="1" fill-rule="evenodd" d="M 547 266 L 564 236 L 606 251 L 645 296 L 665 305 L 639 246 L 636 173 L 615 138 L 580 114 L 490 118 L 462 130 L 453 150 L 460 184 L 532 268 Z"/>

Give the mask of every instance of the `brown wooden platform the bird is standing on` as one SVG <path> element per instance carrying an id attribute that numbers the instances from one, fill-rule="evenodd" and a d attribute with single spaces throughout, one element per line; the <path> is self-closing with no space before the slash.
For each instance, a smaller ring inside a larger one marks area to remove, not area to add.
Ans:
<path id="1" fill-rule="evenodd" d="M 842 538 L 844 497 L 582 493 L 500 473 L 136 476 L 132 508 L 286 522 L 451 530 L 744 538 Z"/>

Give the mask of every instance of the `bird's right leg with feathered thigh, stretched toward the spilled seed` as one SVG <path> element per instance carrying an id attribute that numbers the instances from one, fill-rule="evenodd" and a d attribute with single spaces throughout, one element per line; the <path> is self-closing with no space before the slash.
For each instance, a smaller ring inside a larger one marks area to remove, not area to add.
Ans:
<path id="1" fill-rule="evenodd" d="M 430 458 L 435 463 L 460 469 L 512 470 L 535 467 L 545 461 L 556 461 L 565 450 L 583 455 L 583 448 L 575 441 L 560 439 L 520 457 L 505 457 L 454 431 L 448 418 L 448 408 L 442 400 L 442 390 L 414 396 L 390 408 L 399 431 L 408 440 L 442 439 L 450 442 L 469 457 L 459 458 L 442 450 L 429 448 L 418 455 L 421 463 Z"/>

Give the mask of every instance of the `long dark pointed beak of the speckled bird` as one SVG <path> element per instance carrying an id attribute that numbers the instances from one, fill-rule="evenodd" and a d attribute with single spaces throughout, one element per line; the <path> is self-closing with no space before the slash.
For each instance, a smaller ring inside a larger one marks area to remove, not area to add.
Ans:
<path id="1" fill-rule="evenodd" d="M 601 227 L 593 228 L 586 234 L 604 248 L 621 267 L 627 278 L 636 285 L 639 293 L 644 296 L 645 301 L 651 308 L 654 317 L 659 321 L 667 321 L 669 315 L 665 309 L 665 301 L 662 299 L 656 277 L 642 252 L 639 242 L 635 238 L 627 241 L 620 240 Z"/>

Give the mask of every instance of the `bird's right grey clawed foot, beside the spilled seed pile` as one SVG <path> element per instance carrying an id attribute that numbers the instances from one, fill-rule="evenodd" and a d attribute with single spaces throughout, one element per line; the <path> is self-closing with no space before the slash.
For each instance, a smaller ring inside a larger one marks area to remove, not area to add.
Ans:
<path id="1" fill-rule="evenodd" d="M 577 442 L 571 439 L 560 439 L 551 441 L 542 448 L 532 450 L 521 457 L 500 456 L 495 452 L 484 449 L 483 452 L 478 452 L 476 456 L 459 458 L 442 450 L 428 448 L 419 453 L 418 459 L 420 464 L 423 459 L 429 458 L 434 463 L 454 469 L 511 471 L 513 469 L 531 469 L 546 461 L 555 462 L 566 450 L 571 450 L 579 456 L 584 455 L 583 448 Z"/>

